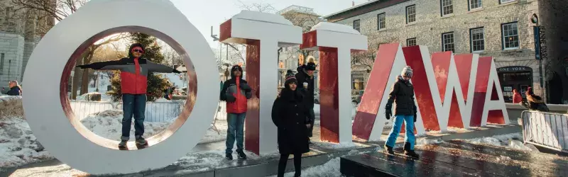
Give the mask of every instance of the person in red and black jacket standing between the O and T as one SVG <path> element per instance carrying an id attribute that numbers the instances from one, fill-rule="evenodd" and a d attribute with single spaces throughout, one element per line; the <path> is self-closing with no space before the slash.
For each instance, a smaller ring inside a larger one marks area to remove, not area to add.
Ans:
<path id="1" fill-rule="evenodd" d="M 246 102 L 252 97 L 252 89 L 242 78 L 243 68 L 234 65 L 231 68 L 231 79 L 225 81 L 219 99 L 226 101 L 226 130 L 225 158 L 233 159 L 233 145 L 236 139 L 236 153 L 239 158 L 246 159 L 244 154 L 244 118 L 246 117 Z"/>

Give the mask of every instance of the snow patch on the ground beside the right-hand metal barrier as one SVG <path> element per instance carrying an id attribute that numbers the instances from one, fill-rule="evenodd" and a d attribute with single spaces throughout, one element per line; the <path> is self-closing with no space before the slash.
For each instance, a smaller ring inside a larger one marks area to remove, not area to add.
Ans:
<path id="1" fill-rule="evenodd" d="M 493 137 L 481 137 L 474 139 L 464 139 L 466 142 L 478 144 L 489 144 L 496 147 L 508 147 L 510 149 L 518 149 L 521 151 L 535 151 L 534 148 L 523 144 L 523 135 L 520 133 L 512 133 L 506 135 L 496 135 Z"/>

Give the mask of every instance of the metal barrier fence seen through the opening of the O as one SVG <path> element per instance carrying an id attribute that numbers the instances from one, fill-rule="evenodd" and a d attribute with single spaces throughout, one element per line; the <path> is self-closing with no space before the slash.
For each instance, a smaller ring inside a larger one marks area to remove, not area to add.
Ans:
<path id="1" fill-rule="evenodd" d="M 182 103 L 177 102 L 146 102 L 146 122 L 167 122 L 178 118 Z M 75 118 L 82 120 L 88 116 L 97 115 L 105 110 L 122 110 L 122 103 L 99 101 L 71 101 Z"/>

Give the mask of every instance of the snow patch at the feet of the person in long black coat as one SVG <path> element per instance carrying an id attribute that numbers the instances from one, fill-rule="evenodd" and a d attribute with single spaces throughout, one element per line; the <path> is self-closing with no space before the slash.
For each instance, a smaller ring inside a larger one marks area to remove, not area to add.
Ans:
<path id="1" fill-rule="evenodd" d="M 327 163 L 320 166 L 312 166 L 302 170 L 302 176 L 326 176 L 326 177 L 340 177 L 342 172 L 339 171 L 339 157 L 327 161 Z M 293 165 L 288 163 L 288 166 Z M 294 176 L 294 172 L 285 173 L 284 176 Z M 275 177 L 275 176 L 271 176 Z"/>

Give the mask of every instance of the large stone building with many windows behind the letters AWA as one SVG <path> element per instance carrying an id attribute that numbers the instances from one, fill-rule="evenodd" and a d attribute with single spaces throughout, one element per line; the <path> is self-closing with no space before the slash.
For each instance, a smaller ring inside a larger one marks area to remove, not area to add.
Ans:
<path id="1" fill-rule="evenodd" d="M 370 52 L 353 62 L 354 89 L 364 89 L 370 69 L 361 63 L 374 59 L 378 45 L 400 42 L 426 45 L 431 53 L 493 57 L 503 95 L 510 101 L 512 89 L 532 87 L 545 95 L 535 59 L 533 13 L 539 14 L 537 0 L 375 0 L 324 18 L 368 36 Z"/>

